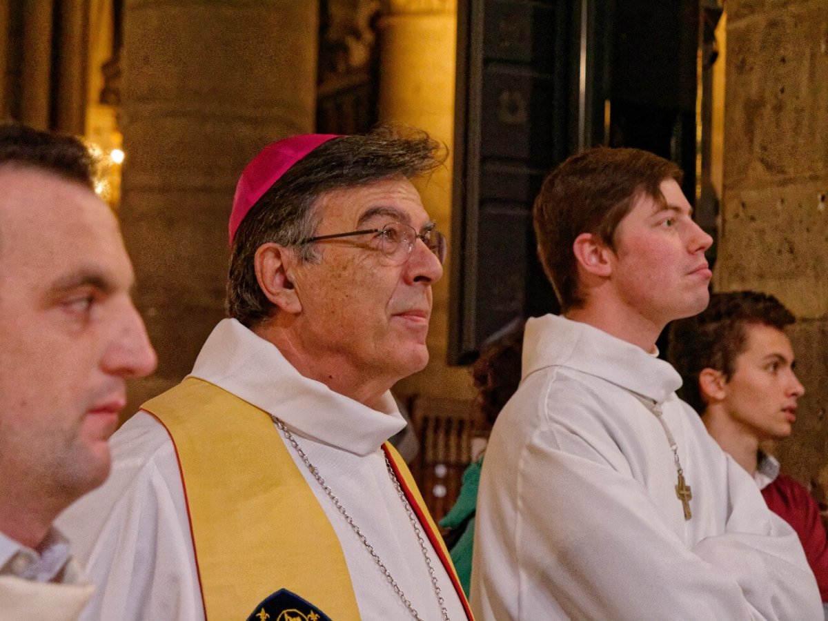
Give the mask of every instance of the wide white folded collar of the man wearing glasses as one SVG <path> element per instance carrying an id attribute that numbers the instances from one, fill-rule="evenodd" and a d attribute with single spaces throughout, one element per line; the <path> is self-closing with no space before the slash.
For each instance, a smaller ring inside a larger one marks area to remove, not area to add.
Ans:
<path id="1" fill-rule="evenodd" d="M 234 319 L 215 326 L 190 376 L 278 416 L 301 436 L 357 455 L 372 453 L 406 426 L 390 391 L 381 411 L 364 406 L 301 375 L 274 344 Z"/>

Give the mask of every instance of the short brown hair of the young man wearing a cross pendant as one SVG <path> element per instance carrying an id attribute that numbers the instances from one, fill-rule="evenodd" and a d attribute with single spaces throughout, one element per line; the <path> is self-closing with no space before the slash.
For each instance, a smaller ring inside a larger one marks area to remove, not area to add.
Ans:
<path id="1" fill-rule="evenodd" d="M 662 181 L 681 183 L 672 161 L 640 149 L 596 147 L 571 156 L 543 181 L 533 209 L 538 256 L 561 302 L 583 306 L 573 252 L 581 233 L 614 247 L 615 229 L 641 195 L 664 201 Z"/>

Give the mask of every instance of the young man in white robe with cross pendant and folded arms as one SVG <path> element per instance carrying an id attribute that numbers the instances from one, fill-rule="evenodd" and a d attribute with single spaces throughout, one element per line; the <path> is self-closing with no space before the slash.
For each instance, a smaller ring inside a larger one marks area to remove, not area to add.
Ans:
<path id="1" fill-rule="evenodd" d="M 561 316 L 529 320 L 480 481 L 477 619 L 821 619 L 796 533 L 676 397 L 657 359 L 705 308 L 711 238 L 672 162 L 598 148 L 534 220 Z"/>

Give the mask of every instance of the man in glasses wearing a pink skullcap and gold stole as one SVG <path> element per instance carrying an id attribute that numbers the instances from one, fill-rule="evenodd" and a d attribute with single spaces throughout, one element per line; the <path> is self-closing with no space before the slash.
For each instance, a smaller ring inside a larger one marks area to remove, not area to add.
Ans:
<path id="1" fill-rule="evenodd" d="M 84 619 L 466 619 L 386 440 L 426 365 L 445 238 L 409 181 L 436 142 L 388 129 L 266 147 L 230 214 L 230 319 L 113 436 L 61 522 L 102 582 Z M 209 248 L 205 248 L 209 252 Z"/>

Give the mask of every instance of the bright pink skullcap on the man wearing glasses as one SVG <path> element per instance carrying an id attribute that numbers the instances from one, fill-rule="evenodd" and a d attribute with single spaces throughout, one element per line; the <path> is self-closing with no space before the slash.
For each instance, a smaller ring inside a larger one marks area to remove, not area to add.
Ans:
<path id="1" fill-rule="evenodd" d="M 233 196 L 233 210 L 230 212 L 230 244 L 236 236 L 238 225 L 247 216 L 250 208 L 262 198 L 271 185 L 279 181 L 291 166 L 304 156 L 338 134 L 306 133 L 291 136 L 264 147 L 258 156 L 244 168 Z"/>

